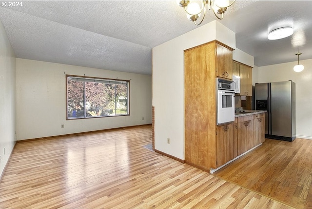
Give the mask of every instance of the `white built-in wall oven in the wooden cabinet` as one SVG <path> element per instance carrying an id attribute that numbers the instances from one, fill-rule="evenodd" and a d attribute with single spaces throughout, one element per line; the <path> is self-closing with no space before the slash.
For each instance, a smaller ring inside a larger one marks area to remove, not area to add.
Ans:
<path id="1" fill-rule="evenodd" d="M 232 81 L 216 79 L 216 124 L 226 124 L 234 121 L 234 89 L 231 85 Z"/>

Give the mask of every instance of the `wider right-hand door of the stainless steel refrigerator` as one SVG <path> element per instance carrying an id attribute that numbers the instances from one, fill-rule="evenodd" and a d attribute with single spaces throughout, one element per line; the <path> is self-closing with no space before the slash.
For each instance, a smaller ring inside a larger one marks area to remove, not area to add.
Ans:
<path id="1" fill-rule="evenodd" d="M 291 82 L 271 83 L 272 135 L 292 137 Z"/>

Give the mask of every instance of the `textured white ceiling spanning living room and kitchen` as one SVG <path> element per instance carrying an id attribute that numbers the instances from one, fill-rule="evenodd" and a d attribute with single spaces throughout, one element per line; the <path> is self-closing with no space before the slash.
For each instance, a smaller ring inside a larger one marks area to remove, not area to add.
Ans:
<path id="1" fill-rule="evenodd" d="M 175 0 L 22 2 L 0 7 L 16 56 L 53 63 L 151 74 L 153 47 L 201 26 Z M 202 25 L 214 20 L 208 11 Z M 312 59 L 310 0 L 237 0 L 220 22 L 256 66 L 296 61 L 298 51 Z M 291 37 L 268 40 L 268 31 L 289 25 Z"/>

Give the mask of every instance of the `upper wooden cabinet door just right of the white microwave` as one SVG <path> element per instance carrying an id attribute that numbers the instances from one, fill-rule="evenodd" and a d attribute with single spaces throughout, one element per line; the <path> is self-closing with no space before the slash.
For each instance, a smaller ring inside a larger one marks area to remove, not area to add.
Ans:
<path id="1" fill-rule="evenodd" d="M 240 76 L 240 95 L 252 96 L 253 95 L 252 68 L 240 64 L 239 76 Z"/>

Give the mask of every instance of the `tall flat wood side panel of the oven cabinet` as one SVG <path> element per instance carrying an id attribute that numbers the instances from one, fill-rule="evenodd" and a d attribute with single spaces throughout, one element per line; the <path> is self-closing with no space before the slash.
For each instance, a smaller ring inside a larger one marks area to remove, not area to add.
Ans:
<path id="1" fill-rule="evenodd" d="M 215 43 L 184 52 L 185 160 L 215 166 Z"/>

